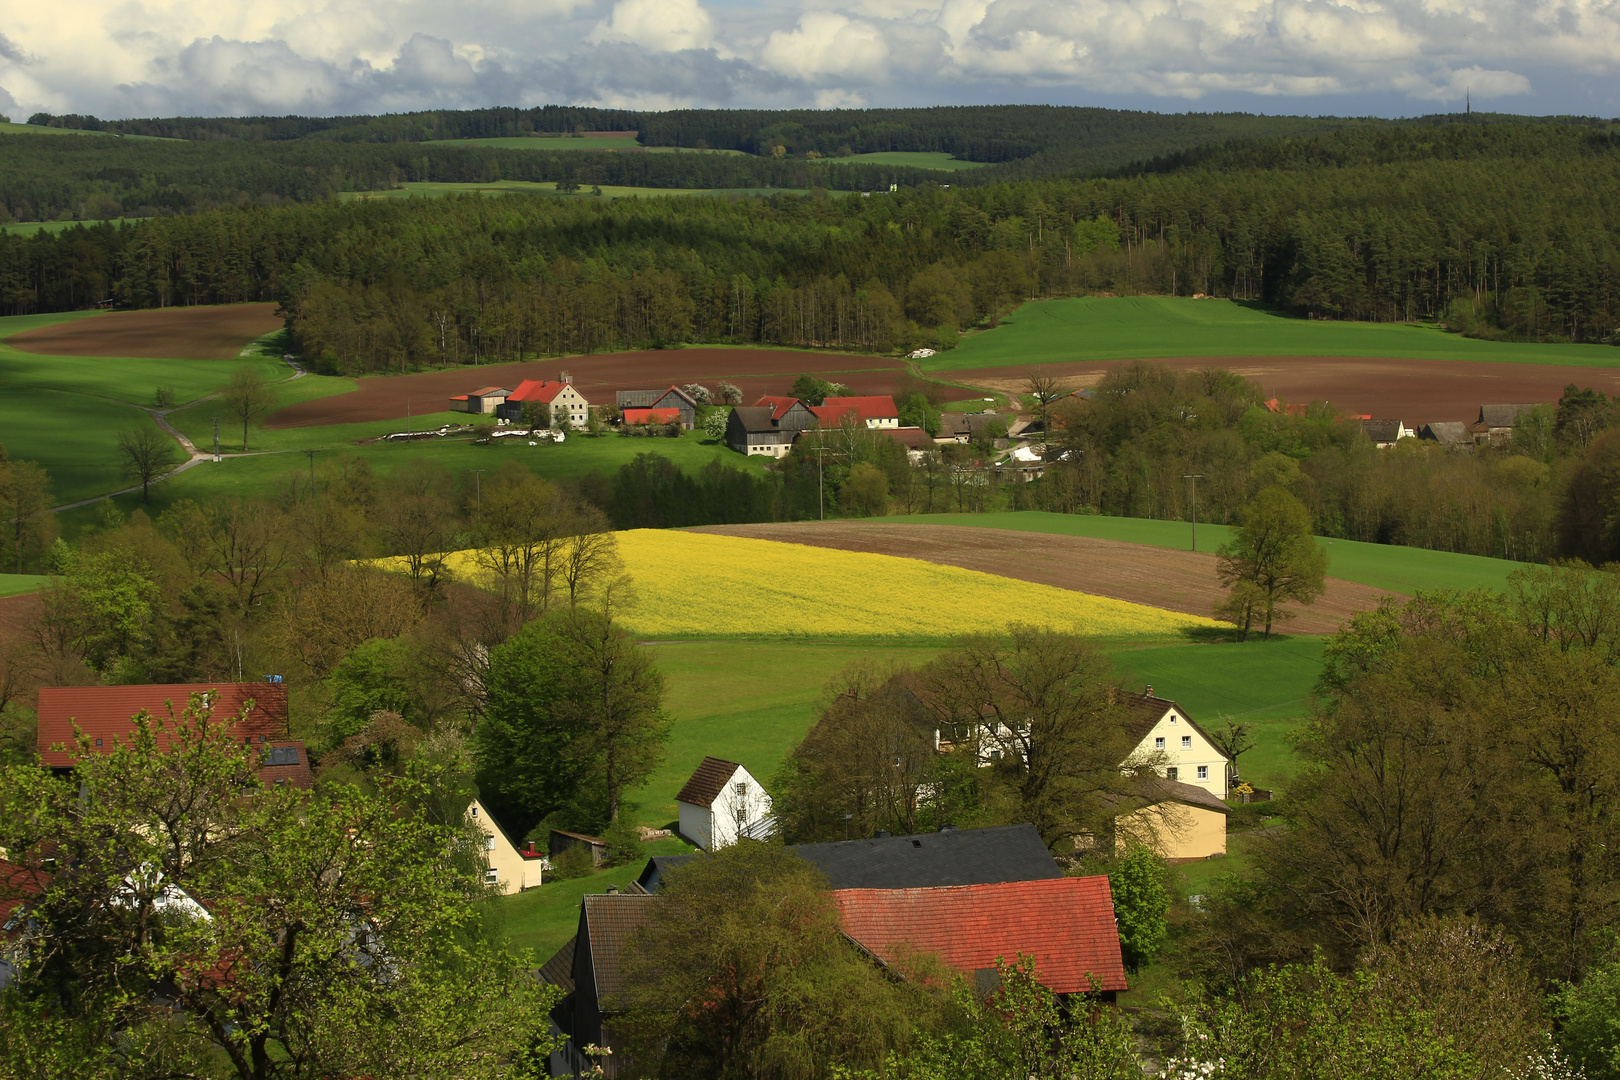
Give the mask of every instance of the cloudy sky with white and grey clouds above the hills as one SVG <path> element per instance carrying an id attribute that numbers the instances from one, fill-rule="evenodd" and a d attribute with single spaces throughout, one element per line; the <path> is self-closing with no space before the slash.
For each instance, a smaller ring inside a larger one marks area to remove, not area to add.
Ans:
<path id="1" fill-rule="evenodd" d="M 0 113 L 1620 115 L 1620 0 L 13 0 Z"/>

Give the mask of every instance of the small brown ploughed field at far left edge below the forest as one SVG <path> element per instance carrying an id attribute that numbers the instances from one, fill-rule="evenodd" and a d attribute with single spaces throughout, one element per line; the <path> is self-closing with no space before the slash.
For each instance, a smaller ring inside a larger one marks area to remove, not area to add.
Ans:
<path id="1" fill-rule="evenodd" d="M 160 308 L 58 322 L 16 334 L 5 343 L 42 356 L 233 359 L 253 338 L 280 329 L 275 304 Z"/>

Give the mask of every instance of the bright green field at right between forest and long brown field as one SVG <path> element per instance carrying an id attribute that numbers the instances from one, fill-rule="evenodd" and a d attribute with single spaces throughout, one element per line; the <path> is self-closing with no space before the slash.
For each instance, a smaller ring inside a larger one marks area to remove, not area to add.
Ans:
<path id="1" fill-rule="evenodd" d="M 1395 356 L 1520 364 L 1620 366 L 1609 345 L 1479 342 L 1435 325 L 1293 319 L 1230 300 L 1126 296 L 1024 304 L 993 330 L 922 361 L 964 371 L 1176 356 Z"/>

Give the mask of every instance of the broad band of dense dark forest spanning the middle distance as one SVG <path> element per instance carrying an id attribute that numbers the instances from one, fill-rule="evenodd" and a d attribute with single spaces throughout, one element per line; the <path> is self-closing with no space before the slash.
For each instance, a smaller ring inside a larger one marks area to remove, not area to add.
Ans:
<path id="1" fill-rule="evenodd" d="M 0 309 L 277 300 L 334 371 L 658 342 L 949 348 L 1024 298 L 1095 291 L 1614 343 L 1617 189 L 1607 131 L 1452 125 L 870 198 L 318 199 L 3 236 Z"/>

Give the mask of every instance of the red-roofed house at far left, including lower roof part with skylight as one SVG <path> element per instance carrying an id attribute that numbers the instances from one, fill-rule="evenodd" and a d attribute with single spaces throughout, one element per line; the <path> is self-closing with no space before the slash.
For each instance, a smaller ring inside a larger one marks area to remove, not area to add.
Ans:
<path id="1" fill-rule="evenodd" d="M 300 740 L 288 738 L 287 687 L 282 683 L 159 683 L 146 687 L 42 687 L 39 691 L 39 758 L 53 772 L 70 772 L 78 763 L 73 729 L 89 740 L 94 753 L 112 753 L 134 733 L 134 717 L 149 712 L 178 717 L 191 695 L 202 695 L 211 716 L 227 724 L 259 755 L 264 784 L 314 787 L 309 756 Z M 170 732 L 157 732 L 157 748 L 173 745 Z"/>

